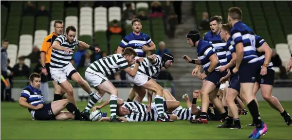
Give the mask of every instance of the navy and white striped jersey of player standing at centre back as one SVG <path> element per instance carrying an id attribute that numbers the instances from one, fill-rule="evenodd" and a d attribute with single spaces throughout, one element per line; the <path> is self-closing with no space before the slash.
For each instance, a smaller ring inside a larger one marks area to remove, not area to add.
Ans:
<path id="1" fill-rule="evenodd" d="M 130 33 L 129 35 L 125 36 L 121 43 L 120 47 L 126 48 L 126 47 L 131 47 L 137 52 L 138 57 L 145 57 L 146 52 L 142 50 L 142 46 L 144 45 L 149 45 L 152 42 L 151 38 L 149 35 L 145 33 L 140 33 L 140 35 L 135 35 L 133 33 Z"/>

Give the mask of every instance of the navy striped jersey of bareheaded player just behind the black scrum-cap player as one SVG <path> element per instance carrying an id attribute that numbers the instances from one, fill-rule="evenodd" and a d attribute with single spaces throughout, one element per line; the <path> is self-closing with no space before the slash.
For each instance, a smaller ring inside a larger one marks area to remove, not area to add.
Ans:
<path id="1" fill-rule="evenodd" d="M 215 35 L 212 31 L 210 31 L 204 36 L 204 40 L 212 44 L 213 51 L 217 54 L 220 65 L 226 65 L 226 42 L 221 39 L 220 33 Z"/>

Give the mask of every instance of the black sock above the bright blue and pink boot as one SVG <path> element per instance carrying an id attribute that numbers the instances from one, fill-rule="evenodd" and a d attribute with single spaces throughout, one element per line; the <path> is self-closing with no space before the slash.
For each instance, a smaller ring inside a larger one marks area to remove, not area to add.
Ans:
<path id="1" fill-rule="evenodd" d="M 262 127 L 261 126 L 261 119 L 260 119 L 260 116 L 259 116 L 259 112 L 258 112 L 258 106 L 256 105 L 256 101 L 253 100 L 252 102 L 250 102 L 248 105 L 247 105 L 248 109 L 250 110 L 252 116 L 253 116 L 253 120 L 254 120 L 254 123 L 256 124 L 256 127 Z"/>

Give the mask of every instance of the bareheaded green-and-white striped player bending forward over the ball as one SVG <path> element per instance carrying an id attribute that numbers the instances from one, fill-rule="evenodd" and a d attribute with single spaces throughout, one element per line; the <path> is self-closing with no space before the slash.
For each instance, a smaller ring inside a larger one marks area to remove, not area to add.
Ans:
<path id="1" fill-rule="evenodd" d="M 91 63 L 85 71 L 85 78 L 91 83 L 94 89 L 98 91 L 98 93 L 93 95 L 86 108 L 81 112 L 82 117 L 89 119 L 89 111 L 91 107 L 105 93 L 109 93 L 110 122 L 122 122 L 122 120 L 116 116 L 118 90 L 112 85 L 106 76 L 113 75 L 120 69 L 124 69 L 130 76 L 135 76 L 139 64 L 143 61 L 143 58 L 138 58 L 133 61 L 136 55 L 137 53 L 135 50 L 128 47 L 122 54 L 112 54 Z M 130 64 L 135 64 L 133 69 L 129 67 Z"/>

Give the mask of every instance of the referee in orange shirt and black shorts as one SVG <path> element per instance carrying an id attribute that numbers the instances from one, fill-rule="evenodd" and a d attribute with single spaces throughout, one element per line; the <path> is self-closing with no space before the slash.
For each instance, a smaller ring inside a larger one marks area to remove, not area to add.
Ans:
<path id="1" fill-rule="evenodd" d="M 57 82 L 52 79 L 52 76 L 50 73 L 52 44 L 59 35 L 63 34 L 63 32 L 64 32 L 63 22 L 61 20 L 56 20 L 54 23 L 54 32 L 45 37 L 42 43 L 42 46 L 40 48 L 40 60 L 41 60 L 41 66 L 42 66 L 41 72 L 44 75 L 48 76 L 47 77 L 48 81 L 53 81 L 54 88 L 55 88 L 54 101 L 61 100 L 64 94 L 64 91 L 57 84 Z M 48 93 L 44 93 L 44 94 L 46 96 L 46 94 Z"/>

